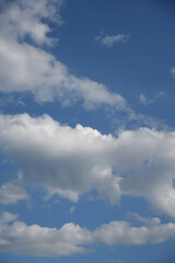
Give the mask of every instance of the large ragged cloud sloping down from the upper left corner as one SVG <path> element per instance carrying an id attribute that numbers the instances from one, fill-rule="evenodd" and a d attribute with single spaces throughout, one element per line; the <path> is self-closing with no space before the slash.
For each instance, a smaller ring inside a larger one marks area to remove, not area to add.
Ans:
<path id="1" fill-rule="evenodd" d="M 121 95 L 89 78 L 71 75 L 66 65 L 44 49 L 45 44 L 56 41 L 49 37 L 47 22 L 62 22 L 63 2 L 18 0 L 7 4 L 0 14 L 0 91 L 31 92 L 37 102 L 58 100 L 70 105 L 82 101 L 86 108 L 108 104 L 127 111 Z"/>

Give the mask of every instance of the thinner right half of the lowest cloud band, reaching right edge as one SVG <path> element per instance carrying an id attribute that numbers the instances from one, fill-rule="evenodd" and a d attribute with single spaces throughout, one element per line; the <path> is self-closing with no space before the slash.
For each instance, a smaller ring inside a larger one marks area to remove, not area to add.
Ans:
<path id="1" fill-rule="evenodd" d="M 93 236 L 108 245 L 159 243 L 175 238 L 175 224 L 133 227 L 127 221 L 112 221 L 102 225 Z"/>

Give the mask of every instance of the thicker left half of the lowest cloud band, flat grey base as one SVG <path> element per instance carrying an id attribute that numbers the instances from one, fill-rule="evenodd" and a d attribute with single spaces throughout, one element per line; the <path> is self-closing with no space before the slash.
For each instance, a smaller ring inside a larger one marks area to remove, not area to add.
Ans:
<path id="1" fill-rule="evenodd" d="M 23 221 L 0 222 L 0 251 L 37 256 L 69 255 L 84 252 L 81 245 L 91 241 L 91 233 L 72 222 L 60 229 L 26 226 Z"/>

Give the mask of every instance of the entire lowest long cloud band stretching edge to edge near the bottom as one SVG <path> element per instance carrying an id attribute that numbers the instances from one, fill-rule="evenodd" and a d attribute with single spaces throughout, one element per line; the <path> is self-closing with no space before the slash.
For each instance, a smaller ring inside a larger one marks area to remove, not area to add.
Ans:
<path id="1" fill-rule="evenodd" d="M 10 224 L 11 220 L 15 220 Z M 96 243 L 145 244 L 159 243 L 175 238 L 175 224 L 158 224 L 151 227 L 135 227 L 127 221 L 110 221 L 94 231 L 65 224 L 60 229 L 27 226 L 16 220 L 16 215 L 3 213 L 0 219 L 0 251 L 36 256 L 56 256 L 82 253 L 86 245 Z"/>

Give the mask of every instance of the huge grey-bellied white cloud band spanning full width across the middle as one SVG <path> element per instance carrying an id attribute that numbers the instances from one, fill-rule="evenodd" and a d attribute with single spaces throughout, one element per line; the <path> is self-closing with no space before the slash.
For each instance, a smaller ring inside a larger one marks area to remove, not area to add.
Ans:
<path id="1" fill-rule="evenodd" d="M 113 204 L 120 195 L 147 198 L 175 218 L 175 133 L 149 128 L 118 137 L 90 127 L 61 126 L 48 115 L 0 115 L 0 146 L 28 185 L 43 185 L 47 198 L 78 202 L 96 190 Z"/>

